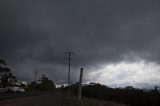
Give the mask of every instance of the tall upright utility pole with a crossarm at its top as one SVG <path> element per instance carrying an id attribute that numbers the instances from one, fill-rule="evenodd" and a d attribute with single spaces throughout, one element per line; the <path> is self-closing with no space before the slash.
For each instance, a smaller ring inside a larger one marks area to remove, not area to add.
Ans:
<path id="1" fill-rule="evenodd" d="M 68 52 L 65 52 L 65 55 L 68 57 L 67 58 L 68 59 L 68 95 L 70 95 L 70 88 L 69 88 L 69 86 L 70 86 L 70 67 L 71 67 L 71 60 L 72 60 L 71 56 L 75 55 L 75 53 L 68 51 Z"/>

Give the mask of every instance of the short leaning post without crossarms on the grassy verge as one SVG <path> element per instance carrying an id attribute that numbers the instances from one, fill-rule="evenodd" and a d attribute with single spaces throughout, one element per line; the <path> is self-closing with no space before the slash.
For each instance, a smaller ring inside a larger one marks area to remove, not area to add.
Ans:
<path id="1" fill-rule="evenodd" d="M 83 68 L 81 68 L 81 70 L 80 70 L 80 76 L 79 76 L 79 84 L 78 84 L 78 99 L 79 100 L 81 100 L 82 77 L 83 77 Z"/>

